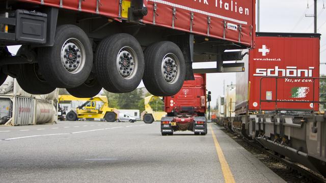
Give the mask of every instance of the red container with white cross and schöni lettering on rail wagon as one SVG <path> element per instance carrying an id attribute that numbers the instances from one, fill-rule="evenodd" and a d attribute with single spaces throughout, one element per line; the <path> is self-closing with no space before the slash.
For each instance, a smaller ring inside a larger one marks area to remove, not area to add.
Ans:
<path id="1" fill-rule="evenodd" d="M 318 110 L 319 41 L 320 34 L 256 33 L 246 72 L 236 76 L 237 110 L 246 109 L 248 88 L 251 111 Z"/>

